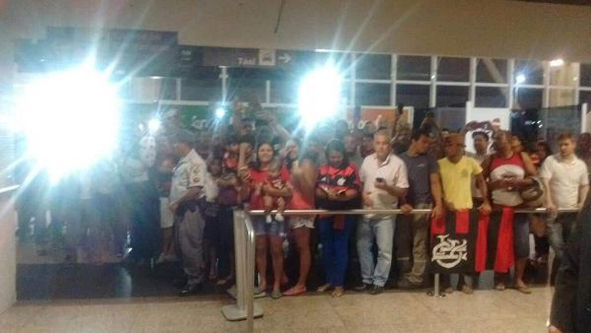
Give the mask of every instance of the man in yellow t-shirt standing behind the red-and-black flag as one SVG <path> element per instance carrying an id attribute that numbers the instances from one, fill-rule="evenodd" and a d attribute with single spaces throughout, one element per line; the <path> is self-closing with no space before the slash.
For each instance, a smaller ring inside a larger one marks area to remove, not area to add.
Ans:
<path id="1" fill-rule="evenodd" d="M 443 201 L 447 212 L 472 209 L 472 177 L 476 179 L 478 189 L 482 193 L 483 203 L 478 208 L 480 214 L 491 213 L 488 201 L 486 181 L 482 176 L 482 167 L 478 161 L 464 155 L 464 140 L 460 134 L 450 134 L 445 138 L 446 157 L 439 160 L 439 173 L 443 185 Z M 442 276 L 446 292 L 453 292 L 449 286 L 449 275 Z M 460 279 L 460 283 L 463 279 Z M 472 293 L 472 279 L 464 279 L 462 292 Z"/>

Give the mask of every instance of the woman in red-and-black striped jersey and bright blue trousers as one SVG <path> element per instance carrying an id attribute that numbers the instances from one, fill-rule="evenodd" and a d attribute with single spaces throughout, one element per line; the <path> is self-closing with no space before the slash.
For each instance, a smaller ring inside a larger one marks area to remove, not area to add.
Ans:
<path id="1" fill-rule="evenodd" d="M 359 208 L 359 176 L 347 158 L 345 145 L 333 139 L 326 145 L 328 164 L 320 166 L 316 181 L 316 205 L 320 209 Z M 325 284 L 319 292 L 332 289 L 333 297 L 343 295 L 348 263 L 349 235 L 355 226 L 354 215 L 325 215 L 318 221 L 322 243 Z"/>

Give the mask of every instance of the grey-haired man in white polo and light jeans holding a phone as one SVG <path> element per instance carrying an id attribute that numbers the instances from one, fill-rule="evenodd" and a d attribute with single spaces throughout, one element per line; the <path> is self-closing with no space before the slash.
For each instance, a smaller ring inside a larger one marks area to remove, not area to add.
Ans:
<path id="1" fill-rule="evenodd" d="M 408 191 L 407 169 L 399 157 L 392 154 L 390 136 L 387 131 L 374 135 L 375 153 L 363 160 L 361 182 L 363 183 L 363 206 L 366 209 L 395 209 L 398 197 Z M 372 295 L 384 291 L 392 264 L 395 215 L 363 216 L 357 228 L 357 251 L 361 264 L 363 284 L 355 290 L 371 288 Z M 374 238 L 378 247 L 378 260 L 374 265 L 372 245 Z"/>

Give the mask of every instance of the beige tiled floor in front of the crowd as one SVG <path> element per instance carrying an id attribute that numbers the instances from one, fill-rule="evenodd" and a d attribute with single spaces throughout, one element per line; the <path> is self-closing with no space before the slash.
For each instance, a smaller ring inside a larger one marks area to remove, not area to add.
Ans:
<path id="1" fill-rule="evenodd" d="M 442 299 L 423 292 L 379 296 L 348 293 L 339 299 L 310 295 L 260 299 L 265 314 L 255 332 L 545 332 L 552 290 L 454 293 Z M 226 321 L 226 298 L 21 302 L 0 315 L 0 332 L 241 332 Z"/>

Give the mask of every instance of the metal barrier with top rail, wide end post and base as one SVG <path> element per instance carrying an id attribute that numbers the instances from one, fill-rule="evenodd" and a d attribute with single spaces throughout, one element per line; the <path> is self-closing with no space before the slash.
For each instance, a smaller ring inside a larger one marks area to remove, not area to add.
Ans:
<path id="1" fill-rule="evenodd" d="M 410 214 L 430 214 L 431 209 L 413 209 Z M 576 208 L 560 208 L 558 213 L 576 213 Z M 271 211 L 275 214 L 277 211 Z M 517 214 L 546 214 L 545 208 L 515 209 Z M 236 253 L 236 304 L 226 305 L 222 313 L 229 321 L 246 319 L 247 332 L 254 329 L 254 318 L 261 317 L 263 310 L 254 302 L 255 277 L 255 231 L 252 227 L 251 215 L 265 215 L 263 210 L 234 211 L 234 242 Z M 393 215 L 402 214 L 401 209 L 349 209 L 345 211 L 329 211 L 326 209 L 290 209 L 282 213 L 286 216 L 297 215 Z M 430 292 L 435 297 L 442 297 L 440 293 L 439 274 L 434 274 L 434 290 Z"/>

